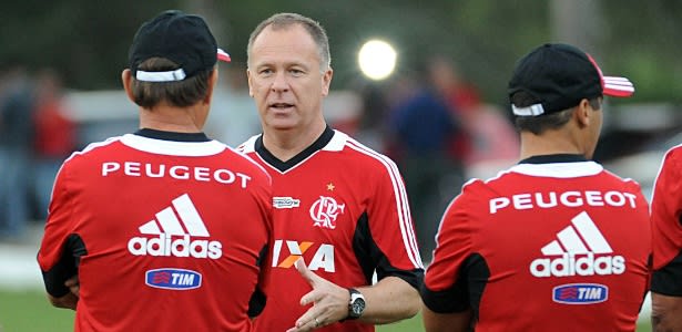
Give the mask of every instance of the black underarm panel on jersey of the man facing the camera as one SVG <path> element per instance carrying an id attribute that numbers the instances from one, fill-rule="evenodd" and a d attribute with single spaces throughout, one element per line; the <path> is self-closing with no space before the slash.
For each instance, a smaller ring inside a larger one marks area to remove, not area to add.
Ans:
<path id="1" fill-rule="evenodd" d="M 397 277 L 405 280 L 416 290 L 419 290 L 424 281 L 424 270 L 400 270 L 388 262 L 388 258 L 381 252 L 371 237 L 367 212 L 364 212 L 357 221 L 355 234 L 353 235 L 353 250 L 357 261 L 360 263 L 367 284 L 371 284 L 371 277 L 376 269 L 378 280 L 386 277 Z"/>

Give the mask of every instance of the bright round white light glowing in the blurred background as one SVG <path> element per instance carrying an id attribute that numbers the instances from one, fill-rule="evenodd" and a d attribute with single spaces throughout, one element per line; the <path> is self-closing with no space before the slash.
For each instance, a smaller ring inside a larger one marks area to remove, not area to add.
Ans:
<path id="1" fill-rule="evenodd" d="M 357 61 L 365 76 L 379 81 L 388 77 L 396 68 L 396 50 L 387 42 L 370 40 L 357 55 Z"/>

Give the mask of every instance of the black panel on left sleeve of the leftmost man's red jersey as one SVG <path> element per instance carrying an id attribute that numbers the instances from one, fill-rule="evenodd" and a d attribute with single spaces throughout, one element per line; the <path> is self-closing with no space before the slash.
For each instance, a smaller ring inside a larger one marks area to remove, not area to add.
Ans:
<path id="1" fill-rule="evenodd" d="M 85 243 L 79 235 L 72 234 L 64 242 L 64 250 L 59 262 L 50 270 L 42 271 L 42 279 L 48 293 L 54 298 L 61 298 L 69 293 L 64 286 L 67 279 L 78 274 L 81 257 L 88 255 Z"/>

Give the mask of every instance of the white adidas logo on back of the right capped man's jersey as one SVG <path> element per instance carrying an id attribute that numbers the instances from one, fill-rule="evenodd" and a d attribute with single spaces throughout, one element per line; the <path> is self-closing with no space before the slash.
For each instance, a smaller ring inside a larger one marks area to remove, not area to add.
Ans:
<path id="1" fill-rule="evenodd" d="M 544 256 L 557 258 L 538 258 L 530 263 L 530 273 L 535 277 L 571 276 L 609 276 L 625 271 L 625 258 L 622 256 L 602 256 L 613 250 L 594 225 L 582 211 L 568 226 L 557 234 L 553 240 L 542 247 Z"/>

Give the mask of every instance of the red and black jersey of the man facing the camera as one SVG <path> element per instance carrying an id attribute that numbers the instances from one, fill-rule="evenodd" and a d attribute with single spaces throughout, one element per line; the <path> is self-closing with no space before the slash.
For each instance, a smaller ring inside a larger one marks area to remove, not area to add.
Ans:
<path id="1" fill-rule="evenodd" d="M 396 165 L 346 134 L 327 129 L 308 148 L 281 162 L 254 136 L 242 146 L 273 178 L 274 236 L 267 305 L 256 331 L 286 331 L 308 307 L 312 290 L 294 262 L 345 288 L 368 286 L 376 271 L 415 288 L 423 277 L 403 178 Z M 374 331 L 359 321 L 319 331 Z"/>

